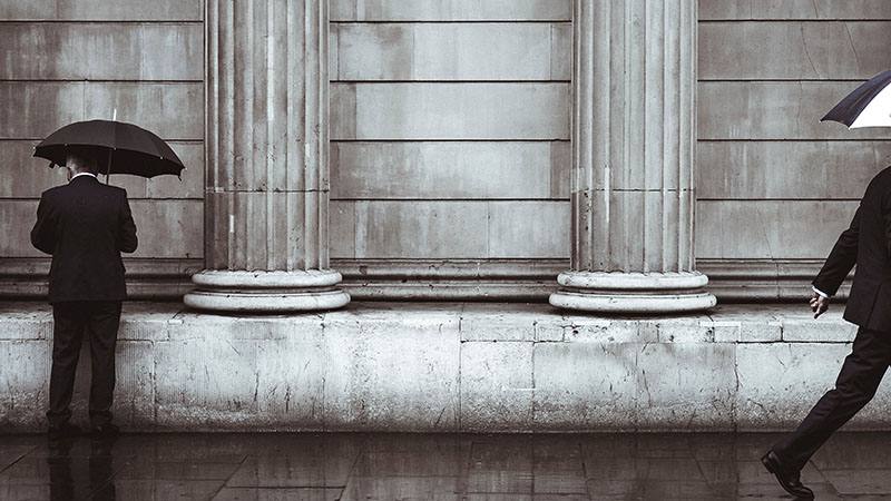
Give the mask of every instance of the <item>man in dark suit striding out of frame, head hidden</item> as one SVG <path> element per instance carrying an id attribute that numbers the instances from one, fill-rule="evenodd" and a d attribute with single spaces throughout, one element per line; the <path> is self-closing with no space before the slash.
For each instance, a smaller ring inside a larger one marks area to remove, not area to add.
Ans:
<path id="1" fill-rule="evenodd" d="M 802 468 L 835 430 L 872 400 L 891 364 L 891 167 L 870 181 L 851 227 L 841 234 L 814 279 L 814 318 L 826 311 L 829 297 L 854 264 L 844 318 L 860 330 L 835 387 L 820 399 L 794 433 L 762 458 L 780 484 L 800 498 L 813 498 L 800 481 Z"/>

